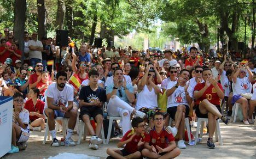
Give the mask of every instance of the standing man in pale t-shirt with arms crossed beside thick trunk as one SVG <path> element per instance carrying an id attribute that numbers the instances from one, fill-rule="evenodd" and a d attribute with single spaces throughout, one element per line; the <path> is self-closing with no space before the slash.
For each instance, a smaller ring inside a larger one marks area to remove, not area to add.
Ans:
<path id="1" fill-rule="evenodd" d="M 32 34 L 32 40 L 28 42 L 28 48 L 30 48 L 30 64 L 33 66 L 36 65 L 38 62 L 42 62 L 42 51 L 43 51 L 43 44 L 41 41 L 37 39 L 37 33 L 34 32 Z"/>

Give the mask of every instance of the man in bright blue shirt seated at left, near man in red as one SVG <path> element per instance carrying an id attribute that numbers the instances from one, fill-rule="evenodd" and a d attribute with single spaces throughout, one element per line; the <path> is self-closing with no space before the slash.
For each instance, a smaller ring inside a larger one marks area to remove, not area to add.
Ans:
<path id="1" fill-rule="evenodd" d="M 26 77 L 27 70 L 21 69 L 19 77 L 15 79 L 15 83 L 18 85 L 16 88 L 22 92 L 24 98 L 26 97 L 28 86 L 28 80 L 25 79 Z"/>

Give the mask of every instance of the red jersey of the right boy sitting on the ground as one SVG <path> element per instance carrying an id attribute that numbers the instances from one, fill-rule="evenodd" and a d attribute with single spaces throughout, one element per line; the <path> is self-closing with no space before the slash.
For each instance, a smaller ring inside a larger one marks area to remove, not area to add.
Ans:
<path id="1" fill-rule="evenodd" d="M 174 137 L 167 127 L 163 127 L 160 133 L 155 131 L 155 127 L 149 127 L 144 140 L 146 143 L 149 143 L 149 145 L 153 145 L 156 151 L 158 151 L 156 145 L 162 149 L 165 149 L 170 142 L 174 141 Z"/>

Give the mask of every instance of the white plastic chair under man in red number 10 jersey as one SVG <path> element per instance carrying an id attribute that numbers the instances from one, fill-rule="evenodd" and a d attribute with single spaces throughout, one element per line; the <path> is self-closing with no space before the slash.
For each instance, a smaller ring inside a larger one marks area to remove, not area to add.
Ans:
<path id="1" fill-rule="evenodd" d="M 215 140 L 218 142 L 219 140 L 219 145 L 223 145 L 222 142 L 222 135 L 220 134 L 220 127 L 219 127 L 219 120 L 216 120 L 216 130 L 215 130 Z M 198 139 L 198 134 L 199 134 L 199 129 L 200 129 L 200 138 L 202 138 L 203 135 L 203 125 L 208 123 L 208 118 L 197 118 L 197 127 L 196 127 L 196 134 L 195 134 L 195 145 L 197 143 Z"/>

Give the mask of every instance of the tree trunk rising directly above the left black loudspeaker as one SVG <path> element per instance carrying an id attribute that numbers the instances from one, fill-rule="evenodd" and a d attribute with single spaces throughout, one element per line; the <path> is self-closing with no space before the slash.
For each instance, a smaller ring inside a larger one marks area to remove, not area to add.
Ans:
<path id="1" fill-rule="evenodd" d="M 56 15 L 56 21 L 55 21 L 55 27 L 56 29 L 63 29 L 63 23 L 65 20 L 65 2 L 63 0 L 58 0 L 57 2 L 57 15 Z"/>

